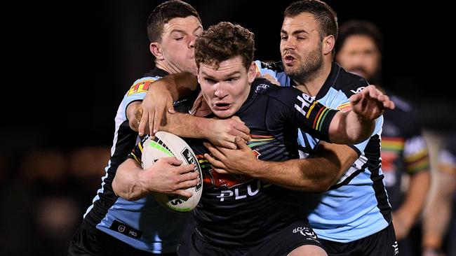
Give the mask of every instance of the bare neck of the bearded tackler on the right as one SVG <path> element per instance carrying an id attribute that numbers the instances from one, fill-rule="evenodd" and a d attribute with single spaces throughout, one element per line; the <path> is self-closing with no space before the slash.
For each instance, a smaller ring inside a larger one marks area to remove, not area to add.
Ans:
<path id="1" fill-rule="evenodd" d="M 328 78 L 332 64 L 333 62 L 331 61 L 323 61 L 321 68 L 315 73 L 302 80 L 293 80 L 293 82 L 295 82 L 295 87 L 305 94 L 309 94 L 312 97 L 316 96 Z"/>

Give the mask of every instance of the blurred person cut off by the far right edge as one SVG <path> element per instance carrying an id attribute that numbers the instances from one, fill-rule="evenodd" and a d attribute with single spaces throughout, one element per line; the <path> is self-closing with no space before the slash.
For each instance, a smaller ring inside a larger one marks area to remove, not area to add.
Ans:
<path id="1" fill-rule="evenodd" d="M 456 134 L 438 153 L 434 185 L 424 215 L 423 256 L 456 255 Z"/>

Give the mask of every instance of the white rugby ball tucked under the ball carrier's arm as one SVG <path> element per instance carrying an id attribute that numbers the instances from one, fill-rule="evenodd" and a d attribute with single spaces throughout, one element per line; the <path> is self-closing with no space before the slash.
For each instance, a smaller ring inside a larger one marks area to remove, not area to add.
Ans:
<path id="1" fill-rule="evenodd" d="M 198 159 L 192 148 L 179 136 L 170 134 L 166 131 L 158 131 L 155 134 L 155 138 L 147 138 L 145 143 L 142 145 L 142 168 L 146 169 L 152 166 L 158 159 L 162 157 L 176 157 L 182 161 L 182 164 L 194 164 L 194 171 L 199 172 L 198 185 L 187 188 L 186 191 L 193 194 L 192 197 L 182 197 L 176 194 L 164 194 L 154 192 L 152 195 L 155 200 L 161 204 L 161 206 L 168 208 L 171 211 L 177 213 L 185 213 L 192 211 L 193 208 L 199 202 L 201 193 L 203 192 L 203 185 L 201 180 L 203 179 L 203 173 L 201 172 L 201 166 L 199 165 Z"/>

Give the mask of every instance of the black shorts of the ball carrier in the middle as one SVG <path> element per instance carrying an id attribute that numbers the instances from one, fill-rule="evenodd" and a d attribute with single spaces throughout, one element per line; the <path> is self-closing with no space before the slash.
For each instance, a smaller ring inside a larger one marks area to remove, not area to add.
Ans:
<path id="1" fill-rule="evenodd" d="M 227 256 L 281 256 L 288 255 L 291 251 L 304 245 L 321 246 L 316 234 L 311 229 L 309 222 L 302 220 L 269 235 L 269 239 L 260 245 L 251 248 L 222 248 L 213 246 L 206 239 L 194 232 L 190 248 L 190 256 L 201 255 L 227 255 Z"/>

